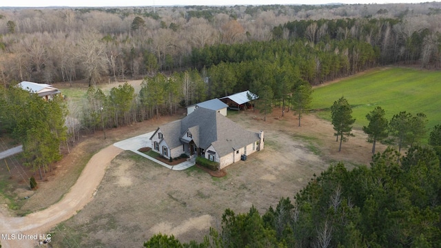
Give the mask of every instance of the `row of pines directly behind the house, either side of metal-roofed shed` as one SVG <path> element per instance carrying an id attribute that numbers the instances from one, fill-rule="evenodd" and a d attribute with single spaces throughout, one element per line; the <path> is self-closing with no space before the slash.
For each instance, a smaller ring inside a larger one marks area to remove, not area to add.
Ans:
<path id="1" fill-rule="evenodd" d="M 229 72 L 229 68 L 223 65 L 226 64 L 207 70 L 207 74 L 213 75 L 208 81 L 203 79 L 197 70 L 176 72 L 172 76 L 162 73 L 145 76 L 138 94 L 128 83 L 113 87 L 107 95 L 98 87 L 89 87 L 83 101 L 81 126 L 94 132 L 108 127 L 129 125 L 165 114 L 175 114 L 179 107 L 187 107 L 214 96 L 234 92 L 232 83 L 236 81 L 232 79 L 238 74 Z M 251 63 L 241 65 L 249 66 L 249 72 L 252 72 Z M 256 81 L 252 85 L 252 92 L 256 92 L 259 99 L 252 100 L 252 105 L 260 110 L 265 118 L 266 114 L 271 113 L 275 103 L 282 107 L 282 115 L 290 109 L 296 110 L 300 126 L 300 116 L 311 103 L 311 85 L 297 78 L 294 71 L 287 67 L 277 70 L 277 75 L 269 74 L 271 70 L 267 72 L 266 75 L 260 75 L 269 78 L 276 76 L 280 82 L 273 81 L 274 84 L 269 85 Z"/>

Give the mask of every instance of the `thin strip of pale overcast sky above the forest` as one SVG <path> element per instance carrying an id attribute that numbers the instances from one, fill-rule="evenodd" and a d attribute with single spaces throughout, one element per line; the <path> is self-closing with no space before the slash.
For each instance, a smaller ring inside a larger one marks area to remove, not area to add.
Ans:
<path id="1" fill-rule="evenodd" d="M 223 6 L 223 5 L 268 5 L 268 4 L 324 4 L 324 3 L 420 3 L 416 0 L 1 0 L 1 7 L 105 7 L 105 6 Z"/>

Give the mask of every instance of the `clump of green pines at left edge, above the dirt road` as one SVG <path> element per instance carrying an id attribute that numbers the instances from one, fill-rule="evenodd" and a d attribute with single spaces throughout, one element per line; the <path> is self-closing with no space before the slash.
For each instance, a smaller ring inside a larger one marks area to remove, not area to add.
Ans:
<path id="1" fill-rule="evenodd" d="M 61 96 L 45 101 L 19 87 L 0 86 L 0 132 L 23 145 L 23 165 L 38 171 L 40 178 L 61 159 L 62 145 L 68 145 L 67 114 Z"/>

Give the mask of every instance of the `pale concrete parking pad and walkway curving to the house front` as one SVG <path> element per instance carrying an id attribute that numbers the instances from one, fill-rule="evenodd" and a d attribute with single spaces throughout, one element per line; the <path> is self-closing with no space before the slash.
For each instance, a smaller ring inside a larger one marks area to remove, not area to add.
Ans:
<path id="1" fill-rule="evenodd" d="M 152 158 L 151 156 L 147 156 L 146 154 L 143 154 L 142 152 L 139 152 L 138 149 L 142 147 L 150 147 L 152 148 L 152 142 L 150 142 L 149 138 L 152 136 L 154 132 L 150 132 L 147 134 L 141 134 L 139 136 L 135 136 L 133 138 L 127 138 L 124 141 L 119 141 L 114 143 L 113 145 L 116 147 L 119 147 L 121 149 L 124 149 L 126 151 L 132 151 L 136 154 L 139 154 L 147 159 L 150 159 L 151 161 L 154 161 L 155 163 L 158 163 L 160 165 L 163 165 L 169 169 L 173 170 L 183 170 L 187 169 L 189 167 L 192 167 L 196 164 L 196 158 L 192 158 L 189 161 L 185 161 L 183 163 L 180 163 L 178 165 L 167 165 L 166 163 L 163 163 L 162 161 L 158 161 L 155 158 Z"/>

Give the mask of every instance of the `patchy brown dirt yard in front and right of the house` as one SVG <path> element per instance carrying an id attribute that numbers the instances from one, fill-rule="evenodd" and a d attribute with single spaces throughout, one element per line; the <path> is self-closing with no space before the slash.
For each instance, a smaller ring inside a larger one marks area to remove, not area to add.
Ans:
<path id="1" fill-rule="evenodd" d="M 158 232 L 201 241 L 210 226 L 220 227 L 227 208 L 239 213 L 254 205 L 263 213 L 280 197 L 292 198 L 332 161 L 369 163 L 365 136 L 351 138 L 338 153 L 331 125 L 315 116 L 306 116 L 302 127 L 291 114 L 277 112 L 266 122 L 254 112 L 230 118 L 265 130 L 265 149 L 227 167 L 224 178 L 196 167 L 175 172 L 123 152 L 107 168 L 94 200 L 52 229 L 54 247 L 139 247 Z"/>

